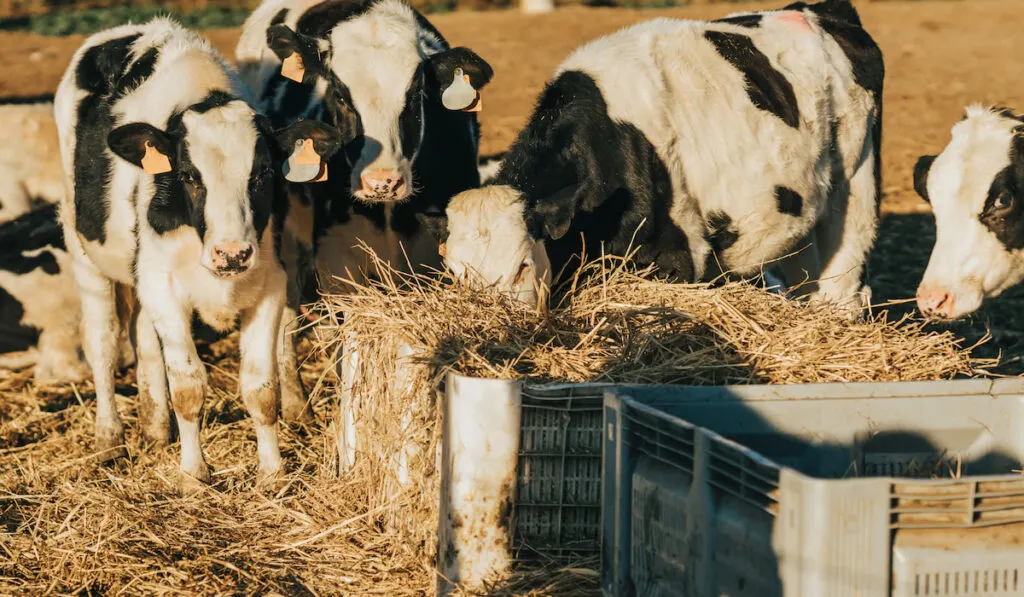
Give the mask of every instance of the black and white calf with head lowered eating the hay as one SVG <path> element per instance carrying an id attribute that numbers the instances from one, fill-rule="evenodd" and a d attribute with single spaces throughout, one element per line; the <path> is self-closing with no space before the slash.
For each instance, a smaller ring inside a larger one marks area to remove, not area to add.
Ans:
<path id="1" fill-rule="evenodd" d="M 783 261 L 860 307 L 877 223 L 884 65 L 846 0 L 660 18 L 555 73 L 492 185 L 447 208 L 445 261 L 520 297 L 580 254 L 677 281 Z M 543 247 L 538 248 L 543 243 Z"/>

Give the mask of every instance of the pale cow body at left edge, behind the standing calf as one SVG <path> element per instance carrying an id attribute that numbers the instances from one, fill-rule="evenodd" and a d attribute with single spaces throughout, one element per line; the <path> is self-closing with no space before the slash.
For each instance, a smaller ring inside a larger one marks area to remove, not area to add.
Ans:
<path id="1" fill-rule="evenodd" d="M 0 223 L 65 194 L 53 96 L 0 98 Z"/>

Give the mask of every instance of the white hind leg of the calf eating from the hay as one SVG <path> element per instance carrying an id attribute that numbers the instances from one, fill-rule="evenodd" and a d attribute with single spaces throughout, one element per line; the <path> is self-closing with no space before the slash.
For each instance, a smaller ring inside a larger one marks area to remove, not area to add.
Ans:
<path id="1" fill-rule="evenodd" d="M 879 225 L 879 172 L 870 133 L 863 146 L 858 166 L 847 181 L 848 193 L 829 198 L 830 202 L 836 199 L 836 205 L 827 206 L 816 227 L 822 269 L 813 298 L 849 307 L 855 315 L 862 314 L 869 301 L 870 289 L 863 286 L 863 280 Z"/>

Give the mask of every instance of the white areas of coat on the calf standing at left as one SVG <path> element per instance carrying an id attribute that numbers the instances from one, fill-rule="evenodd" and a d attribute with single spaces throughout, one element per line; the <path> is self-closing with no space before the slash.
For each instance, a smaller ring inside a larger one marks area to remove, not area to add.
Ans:
<path id="1" fill-rule="evenodd" d="M 241 90 L 233 72 L 207 41 L 168 19 L 115 28 L 90 37 L 75 54 L 54 100 L 69 188 L 74 188 L 76 110 L 86 95 L 76 86 L 76 69 L 87 48 L 130 33 L 142 34 L 132 46 L 133 55 L 159 47 L 160 58 L 153 75 L 115 104 L 119 124 L 147 122 L 163 129 L 174 112 L 202 100 L 211 91 L 238 94 Z M 243 392 L 263 386 L 278 391 L 276 360 L 265 358 L 263 352 L 275 354 L 280 317 L 285 307 L 285 272 L 274 257 L 273 222 L 268 223 L 261 238 L 250 238 L 251 216 L 247 204 L 242 203 L 256 141 L 253 115 L 244 102 L 232 101 L 205 114 L 188 113 L 182 120 L 187 131 L 185 143 L 208 189 L 206 247 L 189 226 L 163 236 L 150 227 L 146 215 L 154 179 L 113 154 L 110 154 L 113 172 L 108 195 L 111 218 L 105 227 L 106 242 L 101 245 L 84 242 L 78 234 L 71 194 L 61 209 L 68 249 L 81 291 L 85 348 L 96 382 L 97 447 L 114 449 L 124 441 L 123 425 L 114 402 L 111 341 L 111 331 L 122 324 L 114 305 L 115 283 L 118 283 L 135 287 L 140 323 L 152 326 L 160 338 L 166 385 L 181 432 L 181 470 L 201 480 L 209 477 L 198 429 L 206 371 L 191 339 L 193 311 L 218 329 L 228 328 L 241 317 L 243 338 L 252 337 L 266 344 L 260 350 L 243 350 Z M 212 243 L 222 241 L 257 244 L 254 264 L 231 278 L 215 275 L 204 266 L 205 254 Z M 254 316 L 256 312 L 262 314 Z M 142 333 L 150 332 L 143 329 Z M 152 357 L 153 352 L 140 351 L 140 357 Z M 151 367 L 150 363 L 139 364 L 140 370 L 156 371 Z M 166 404 L 166 396 L 157 395 L 161 387 L 156 380 L 150 388 L 156 392 L 152 398 L 158 406 Z M 276 423 L 275 416 L 269 421 L 261 417 L 259 409 L 250 408 L 250 413 L 258 426 Z M 272 453 L 270 447 L 261 445 L 260 468 L 264 473 L 280 470 L 280 458 L 272 458 Z"/>

